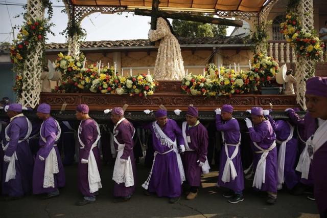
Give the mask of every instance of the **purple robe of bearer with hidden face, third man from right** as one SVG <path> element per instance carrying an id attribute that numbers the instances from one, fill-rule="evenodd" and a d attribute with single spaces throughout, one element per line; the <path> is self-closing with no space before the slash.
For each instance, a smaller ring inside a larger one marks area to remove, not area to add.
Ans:
<path id="1" fill-rule="evenodd" d="M 270 115 L 267 115 L 270 124 L 276 134 L 276 139 L 278 141 L 285 141 L 291 134 L 291 128 L 287 121 L 285 120 L 277 120 L 274 121 Z M 294 131 L 296 131 L 294 127 Z M 284 164 L 284 182 L 288 189 L 294 188 L 294 186 L 299 182 L 298 175 L 295 172 L 295 161 L 297 156 L 297 138 L 295 138 L 296 134 L 293 133 L 293 137 L 286 143 L 285 149 L 285 164 Z M 276 142 L 277 143 L 277 142 Z M 278 144 L 278 152 L 279 146 Z M 297 164 L 297 163 L 296 163 Z"/>

